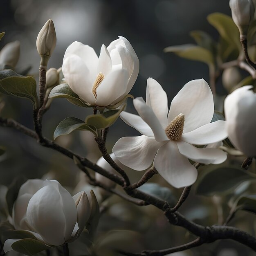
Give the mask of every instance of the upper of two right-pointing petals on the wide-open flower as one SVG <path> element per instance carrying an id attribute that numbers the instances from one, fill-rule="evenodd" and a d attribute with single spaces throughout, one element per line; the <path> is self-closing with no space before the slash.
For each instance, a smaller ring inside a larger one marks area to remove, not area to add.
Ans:
<path id="1" fill-rule="evenodd" d="M 226 121 L 222 120 L 206 124 L 191 132 L 184 133 L 181 139 L 190 144 L 196 145 L 207 145 L 210 143 L 222 141 L 223 139 L 227 138 L 225 124 Z"/>

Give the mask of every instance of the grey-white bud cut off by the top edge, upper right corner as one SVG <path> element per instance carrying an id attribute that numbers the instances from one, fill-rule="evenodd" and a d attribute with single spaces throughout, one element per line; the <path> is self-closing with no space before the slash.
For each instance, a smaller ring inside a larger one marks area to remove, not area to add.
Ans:
<path id="1" fill-rule="evenodd" d="M 229 0 L 229 7 L 240 38 L 246 38 L 249 25 L 254 19 L 254 3 L 252 0 Z"/>

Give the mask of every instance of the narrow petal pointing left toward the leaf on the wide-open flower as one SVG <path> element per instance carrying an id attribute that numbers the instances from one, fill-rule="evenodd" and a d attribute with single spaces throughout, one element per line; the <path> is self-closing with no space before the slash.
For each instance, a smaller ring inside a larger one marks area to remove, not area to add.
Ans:
<path id="1" fill-rule="evenodd" d="M 154 137 L 153 131 L 140 116 L 123 111 L 121 112 L 120 117 L 126 124 L 135 128 L 141 134 L 148 137 Z"/>

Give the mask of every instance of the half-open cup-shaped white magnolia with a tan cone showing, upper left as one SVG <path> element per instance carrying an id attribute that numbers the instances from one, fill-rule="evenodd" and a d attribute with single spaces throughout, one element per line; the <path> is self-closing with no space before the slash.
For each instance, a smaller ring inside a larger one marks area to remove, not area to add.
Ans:
<path id="1" fill-rule="evenodd" d="M 89 45 L 72 43 L 62 71 L 70 88 L 92 106 L 115 105 L 130 92 L 139 73 L 139 59 L 129 41 L 119 36 L 99 57 Z"/>

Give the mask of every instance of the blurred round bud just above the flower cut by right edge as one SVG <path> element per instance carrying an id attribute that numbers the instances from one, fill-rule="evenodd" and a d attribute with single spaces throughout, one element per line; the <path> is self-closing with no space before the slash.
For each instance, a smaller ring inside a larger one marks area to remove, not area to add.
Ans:
<path id="1" fill-rule="evenodd" d="M 223 87 L 230 92 L 242 80 L 242 76 L 237 67 L 228 67 L 223 71 Z"/>

